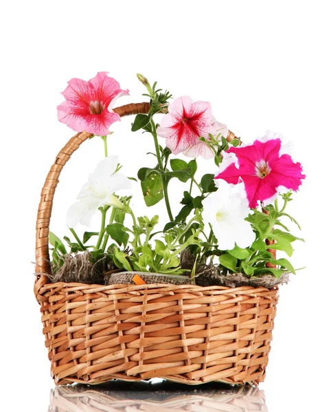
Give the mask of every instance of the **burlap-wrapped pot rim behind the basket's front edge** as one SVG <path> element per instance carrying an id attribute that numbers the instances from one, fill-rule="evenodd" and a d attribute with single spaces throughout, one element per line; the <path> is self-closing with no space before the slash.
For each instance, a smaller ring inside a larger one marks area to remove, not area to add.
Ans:
<path id="1" fill-rule="evenodd" d="M 173 284 L 187 285 L 194 283 L 193 279 L 182 275 L 164 275 L 162 273 L 147 272 L 119 272 L 105 275 L 106 285 L 128 284 L 135 285 L 133 278 L 139 276 L 146 284 Z"/>

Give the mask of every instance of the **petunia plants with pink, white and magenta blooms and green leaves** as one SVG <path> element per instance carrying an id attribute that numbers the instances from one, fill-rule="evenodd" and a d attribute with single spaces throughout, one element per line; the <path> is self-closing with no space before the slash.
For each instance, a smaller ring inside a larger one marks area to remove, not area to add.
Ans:
<path id="1" fill-rule="evenodd" d="M 290 220 L 299 227 L 286 205 L 305 176 L 301 164 L 291 157 L 290 145 L 270 131 L 244 144 L 216 120 L 209 102 L 193 102 L 188 96 L 172 99 L 168 91 L 157 89 L 156 82 L 151 85 L 140 74 L 138 79 L 146 87 L 150 109 L 136 115 L 131 130 L 150 135 L 155 166 L 139 165 L 136 178 L 122 174 L 118 157 L 109 156 L 107 146 L 109 127 L 120 120 L 113 111 L 114 102 L 128 91 L 101 72 L 89 82 L 70 80 L 63 92 L 65 102 L 58 106 L 58 119 L 73 130 L 102 137 L 105 157 L 69 208 L 71 238 L 64 238 L 69 247 L 50 234 L 54 271 L 66 255 L 89 253 L 91 262 L 107 256 L 115 271 L 192 279 L 203 277 L 199 267 L 213 268 L 219 275 L 247 277 L 295 273 L 288 257 L 293 254 L 293 242 L 302 239 L 286 226 Z M 210 172 L 198 177 L 200 157 L 210 163 Z M 168 185 L 176 180 L 185 189 L 172 199 L 182 205 L 175 216 Z M 130 206 L 133 185 L 140 185 L 146 204 L 139 214 Z M 149 211 L 160 202 L 168 215 L 162 227 L 159 216 Z M 100 227 L 80 238 L 76 226 L 91 226 L 98 212 Z M 282 257 L 276 257 L 275 251 L 277 255 L 281 251 Z M 183 253 L 190 255 L 190 268 L 183 264 Z"/>

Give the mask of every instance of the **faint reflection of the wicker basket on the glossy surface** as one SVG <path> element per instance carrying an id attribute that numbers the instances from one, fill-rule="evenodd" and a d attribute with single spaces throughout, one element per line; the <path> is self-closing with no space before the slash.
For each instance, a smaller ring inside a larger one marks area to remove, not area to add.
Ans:
<path id="1" fill-rule="evenodd" d="M 192 389 L 185 391 L 181 385 L 164 382 L 129 385 L 111 385 L 102 390 L 56 388 L 51 392 L 49 412 L 268 412 L 264 391 L 253 387 L 224 389 L 220 385 L 208 385 L 192 392 Z"/>

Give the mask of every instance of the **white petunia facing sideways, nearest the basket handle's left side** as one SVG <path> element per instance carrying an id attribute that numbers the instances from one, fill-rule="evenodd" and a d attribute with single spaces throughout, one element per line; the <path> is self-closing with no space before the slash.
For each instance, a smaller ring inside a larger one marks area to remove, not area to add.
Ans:
<path id="1" fill-rule="evenodd" d="M 90 226 L 91 219 L 101 206 L 109 205 L 123 209 L 122 202 L 114 192 L 130 190 L 131 182 L 124 174 L 116 172 L 117 165 L 117 156 L 106 157 L 98 163 L 80 190 L 77 196 L 79 201 L 73 203 L 67 212 L 68 227 L 76 227 L 78 222 Z"/>

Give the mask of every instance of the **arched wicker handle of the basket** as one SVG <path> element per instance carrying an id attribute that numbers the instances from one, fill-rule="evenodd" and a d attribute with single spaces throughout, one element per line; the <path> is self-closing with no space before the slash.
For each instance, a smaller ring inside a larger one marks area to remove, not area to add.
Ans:
<path id="1" fill-rule="evenodd" d="M 139 113 L 147 114 L 149 110 L 150 104 L 148 102 L 130 103 L 113 109 L 120 117 L 137 115 Z M 41 191 L 41 201 L 39 203 L 36 221 L 36 281 L 34 283 L 34 295 L 38 301 L 47 301 L 47 298 L 39 294 L 39 290 L 49 282 L 47 274 L 51 273 L 48 239 L 49 222 L 52 214 L 54 193 L 58 185 L 58 177 L 73 152 L 76 152 L 80 145 L 92 136 L 92 133 L 81 132 L 71 137 L 65 147 L 62 148 L 56 156 L 55 162 L 47 174 L 43 190 Z M 235 137 L 234 133 L 229 130 L 227 141 L 231 141 Z"/>

